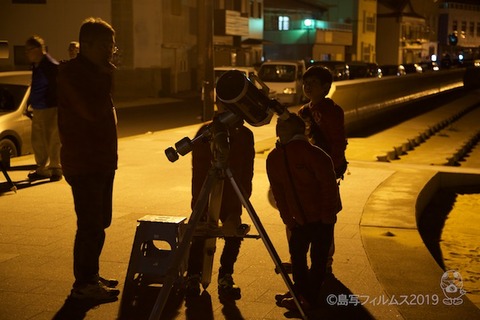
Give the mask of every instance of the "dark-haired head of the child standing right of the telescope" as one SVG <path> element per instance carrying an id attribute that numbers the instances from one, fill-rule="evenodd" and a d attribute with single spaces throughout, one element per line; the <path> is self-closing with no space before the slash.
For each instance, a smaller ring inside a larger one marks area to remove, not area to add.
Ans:
<path id="1" fill-rule="evenodd" d="M 311 66 L 303 74 L 303 92 L 313 102 L 325 98 L 332 86 L 330 70 L 322 66 Z"/>

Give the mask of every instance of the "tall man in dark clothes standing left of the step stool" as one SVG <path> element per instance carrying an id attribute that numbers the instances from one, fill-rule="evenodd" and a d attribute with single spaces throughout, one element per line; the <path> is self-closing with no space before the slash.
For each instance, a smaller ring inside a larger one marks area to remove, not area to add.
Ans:
<path id="1" fill-rule="evenodd" d="M 117 118 L 111 92 L 115 31 L 100 18 L 80 28 L 80 52 L 58 73 L 58 124 L 65 180 L 71 186 L 77 232 L 73 249 L 73 299 L 118 299 L 117 280 L 99 275 L 105 229 L 112 222 L 117 169 Z"/>

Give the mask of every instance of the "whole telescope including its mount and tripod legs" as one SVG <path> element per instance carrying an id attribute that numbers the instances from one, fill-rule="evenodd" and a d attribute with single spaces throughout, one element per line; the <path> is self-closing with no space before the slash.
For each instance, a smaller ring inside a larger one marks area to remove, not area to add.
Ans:
<path id="1" fill-rule="evenodd" d="M 205 216 L 207 209 L 209 212 L 206 220 L 207 223 L 218 227 L 225 179 L 230 181 L 237 197 L 249 213 L 255 228 L 258 230 L 270 256 L 275 262 L 276 270 L 279 270 L 282 274 L 288 291 L 292 294 L 292 298 L 298 307 L 300 315 L 304 320 L 307 320 L 302 305 L 293 290 L 292 280 L 283 267 L 282 261 L 278 256 L 273 243 L 268 237 L 260 218 L 255 212 L 255 209 L 248 200 L 248 197 L 245 197 L 244 191 L 241 190 L 241 187 L 235 181 L 233 173 L 228 166 L 230 148 L 228 137 L 229 127 L 233 127 L 239 121 L 246 121 L 252 126 L 259 127 L 270 123 L 274 113 L 278 114 L 278 117 L 282 120 L 288 119 L 289 113 L 286 107 L 282 106 L 274 99 L 269 99 L 264 92 L 259 90 L 242 72 L 238 70 L 230 70 L 223 74 L 217 81 L 216 90 L 218 98 L 217 103 L 220 104 L 221 107 L 224 107 L 226 111 L 215 116 L 212 123 L 208 124 L 205 127 L 205 130 L 193 140 L 185 137 L 175 144 L 176 149 L 169 147 L 165 150 L 168 160 L 174 162 L 178 160 L 179 154 L 184 156 L 192 151 L 196 141 L 207 139 L 211 144 L 213 161 L 193 207 L 193 212 L 188 221 L 183 238 L 173 255 L 168 274 L 165 277 L 166 280 L 157 297 L 149 320 L 160 319 L 163 308 L 169 297 L 170 290 L 178 277 L 180 265 L 182 264 L 182 261 L 184 261 L 184 257 L 186 256 L 187 250 L 189 250 L 190 243 L 195 235 L 196 225 L 200 223 L 201 218 Z M 213 246 L 213 249 L 215 249 L 215 246 Z M 213 252 L 214 251 L 215 250 L 213 250 Z M 207 285 L 211 280 L 213 256 L 210 255 L 208 259 L 209 261 L 204 264 L 204 267 L 207 266 L 209 269 L 209 271 L 206 272 L 206 274 L 208 274 Z"/>

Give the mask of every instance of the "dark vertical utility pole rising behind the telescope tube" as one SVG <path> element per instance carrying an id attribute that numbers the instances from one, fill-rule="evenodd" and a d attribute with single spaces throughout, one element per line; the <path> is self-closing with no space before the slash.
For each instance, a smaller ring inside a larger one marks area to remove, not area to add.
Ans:
<path id="1" fill-rule="evenodd" d="M 202 79 L 202 120 L 213 119 L 213 0 L 198 0 L 198 65 Z"/>

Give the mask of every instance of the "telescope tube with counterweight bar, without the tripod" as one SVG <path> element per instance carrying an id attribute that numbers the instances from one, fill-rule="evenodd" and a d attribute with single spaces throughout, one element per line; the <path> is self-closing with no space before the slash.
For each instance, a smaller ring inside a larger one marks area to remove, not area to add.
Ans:
<path id="1" fill-rule="evenodd" d="M 289 117 L 285 106 L 275 99 L 270 99 L 238 70 L 232 69 L 225 72 L 217 81 L 216 92 L 217 103 L 227 109 L 227 112 L 221 113 L 216 120 L 227 126 L 239 120 L 245 120 L 254 127 L 260 127 L 270 123 L 274 114 L 282 120 Z M 170 162 L 175 162 L 179 158 L 178 155 L 184 156 L 192 151 L 195 141 L 210 138 L 211 135 L 209 125 L 195 139 L 190 140 L 185 137 L 175 143 L 175 148 L 167 148 L 165 155 Z"/>

